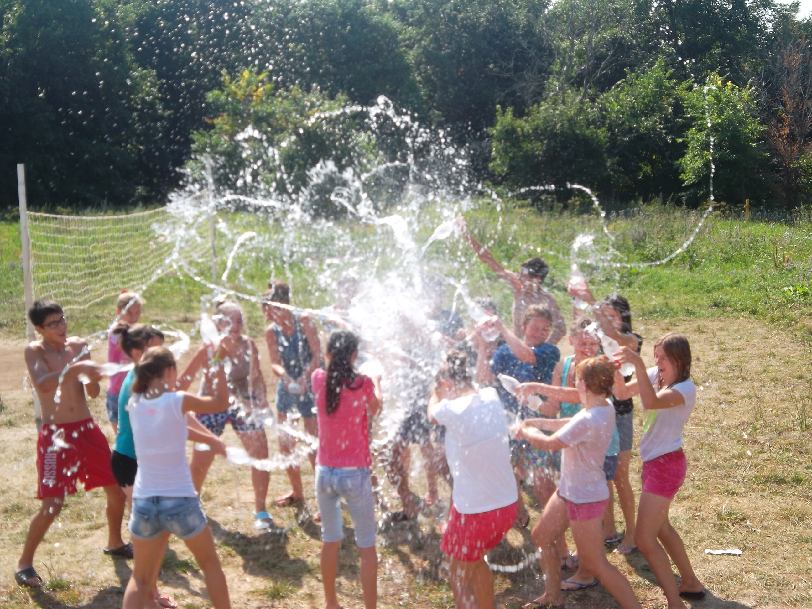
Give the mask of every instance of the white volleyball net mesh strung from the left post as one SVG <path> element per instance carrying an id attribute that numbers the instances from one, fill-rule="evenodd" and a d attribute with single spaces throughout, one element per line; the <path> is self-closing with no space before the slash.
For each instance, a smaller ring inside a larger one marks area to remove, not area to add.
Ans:
<path id="1" fill-rule="evenodd" d="M 123 289 L 141 292 L 180 253 L 205 255 L 209 241 L 196 223 L 166 207 L 119 216 L 28 212 L 34 297 L 82 309 Z"/>

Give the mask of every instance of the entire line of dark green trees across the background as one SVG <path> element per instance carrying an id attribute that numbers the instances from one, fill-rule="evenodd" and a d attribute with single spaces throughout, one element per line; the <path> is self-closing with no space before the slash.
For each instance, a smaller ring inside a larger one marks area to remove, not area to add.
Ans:
<path id="1" fill-rule="evenodd" d="M 224 186 L 293 195 L 319 163 L 404 156 L 402 133 L 339 111 L 382 95 L 508 191 L 702 205 L 712 136 L 718 201 L 812 195 L 797 3 L 0 0 L 0 14 L 0 208 L 16 205 L 17 162 L 43 209 L 162 201 L 210 154 Z"/>

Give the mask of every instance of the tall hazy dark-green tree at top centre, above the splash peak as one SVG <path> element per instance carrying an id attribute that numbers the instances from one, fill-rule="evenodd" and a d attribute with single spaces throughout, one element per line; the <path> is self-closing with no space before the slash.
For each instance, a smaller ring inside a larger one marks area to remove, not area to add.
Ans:
<path id="1" fill-rule="evenodd" d="M 524 108 L 528 97 L 538 101 L 529 79 L 546 79 L 547 6 L 547 0 L 391 2 L 388 10 L 400 24 L 434 123 L 457 134 L 484 135 L 494 124 L 496 104 Z"/>

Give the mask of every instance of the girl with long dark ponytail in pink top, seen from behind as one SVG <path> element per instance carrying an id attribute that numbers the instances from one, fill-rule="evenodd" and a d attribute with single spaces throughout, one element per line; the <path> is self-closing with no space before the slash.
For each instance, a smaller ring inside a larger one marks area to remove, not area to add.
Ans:
<path id="1" fill-rule="evenodd" d="M 327 339 L 327 369 L 311 376 L 318 417 L 316 499 L 322 512 L 322 581 L 326 609 L 338 609 L 335 575 L 343 539 L 341 501 L 347 503 L 361 555 L 365 609 L 378 603 L 375 502 L 369 466 L 369 427 L 381 406 L 381 379 L 356 374 L 358 339 L 335 330 Z"/>

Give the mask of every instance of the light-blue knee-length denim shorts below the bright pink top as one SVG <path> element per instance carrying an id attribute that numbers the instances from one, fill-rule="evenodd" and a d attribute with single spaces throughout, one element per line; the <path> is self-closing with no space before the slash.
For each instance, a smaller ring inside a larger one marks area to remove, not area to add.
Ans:
<path id="1" fill-rule="evenodd" d="M 316 500 L 322 512 L 322 542 L 344 538 L 341 499 L 355 528 L 356 546 L 375 546 L 375 499 L 369 468 L 328 468 L 316 465 Z"/>

